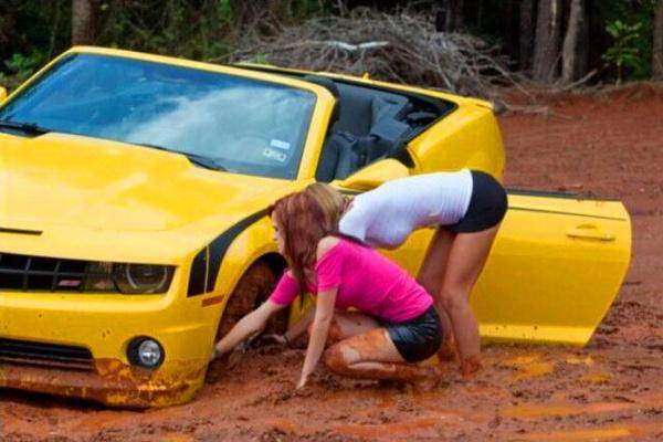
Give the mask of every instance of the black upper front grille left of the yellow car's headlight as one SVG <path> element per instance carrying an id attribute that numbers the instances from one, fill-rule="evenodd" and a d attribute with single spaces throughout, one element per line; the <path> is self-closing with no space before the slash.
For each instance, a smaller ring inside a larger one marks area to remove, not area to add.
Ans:
<path id="1" fill-rule="evenodd" d="M 0 253 L 0 290 L 83 292 L 107 275 L 105 263 Z"/>

